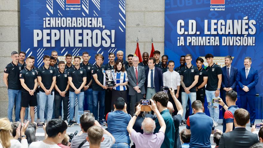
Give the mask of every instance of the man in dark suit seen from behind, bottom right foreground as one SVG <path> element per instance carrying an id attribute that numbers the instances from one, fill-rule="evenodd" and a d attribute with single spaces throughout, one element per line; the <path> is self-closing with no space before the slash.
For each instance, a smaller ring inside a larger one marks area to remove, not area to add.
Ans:
<path id="1" fill-rule="evenodd" d="M 253 144 L 258 143 L 258 135 L 246 129 L 246 124 L 250 118 L 247 110 L 237 109 L 234 117 L 235 129 L 221 135 L 218 148 L 249 148 Z"/>

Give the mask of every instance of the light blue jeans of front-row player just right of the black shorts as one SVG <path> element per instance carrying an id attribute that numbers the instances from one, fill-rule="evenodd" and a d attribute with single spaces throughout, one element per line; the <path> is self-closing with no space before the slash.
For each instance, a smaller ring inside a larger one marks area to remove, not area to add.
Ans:
<path id="1" fill-rule="evenodd" d="M 46 95 L 45 92 L 39 91 L 39 116 L 40 121 L 45 122 L 45 106 L 46 101 L 48 101 L 48 113 L 47 113 L 47 120 L 51 120 L 53 114 L 53 102 L 54 102 L 54 92 L 52 95 Z"/>

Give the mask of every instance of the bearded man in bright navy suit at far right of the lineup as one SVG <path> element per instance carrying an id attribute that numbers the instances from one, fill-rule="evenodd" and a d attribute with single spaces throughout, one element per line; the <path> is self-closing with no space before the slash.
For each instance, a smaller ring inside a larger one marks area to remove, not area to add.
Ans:
<path id="1" fill-rule="evenodd" d="M 247 109 L 247 103 L 250 109 L 250 127 L 254 125 L 256 118 L 255 100 L 256 100 L 256 84 L 259 82 L 258 71 L 250 67 L 251 58 L 245 57 L 245 67 L 238 71 L 236 81 L 239 86 L 239 94 L 241 106 Z"/>

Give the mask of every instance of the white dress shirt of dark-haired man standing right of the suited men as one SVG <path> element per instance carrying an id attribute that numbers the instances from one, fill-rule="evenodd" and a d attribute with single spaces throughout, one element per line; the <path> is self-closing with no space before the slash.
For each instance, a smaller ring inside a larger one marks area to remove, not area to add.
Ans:
<path id="1" fill-rule="evenodd" d="M 177 90 L 177 86 L 181 85 L 180 74 L 176 71 L 166 71 L 163 73 L 163 86 L 172 87 L 174 90 Z"/>

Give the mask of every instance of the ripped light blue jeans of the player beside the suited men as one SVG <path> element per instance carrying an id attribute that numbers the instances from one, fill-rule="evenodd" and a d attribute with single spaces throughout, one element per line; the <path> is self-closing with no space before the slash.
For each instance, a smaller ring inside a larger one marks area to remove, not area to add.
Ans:
<path id="1" fill-rule="evenodd" d="M 215 91 L 208 91 L 208 90 L 206 90 L 206 96 L 207 96 L 207 103 L 208 103 L 207 108 L 209 110 L 210 117 L 213 118 L 213 120 L 216 123 L 218 123 L 218 119 L 219 119 L 219 103 L 212 103 L 212 99 L 217 98 L 217 97 L 215 97 Z"/>

